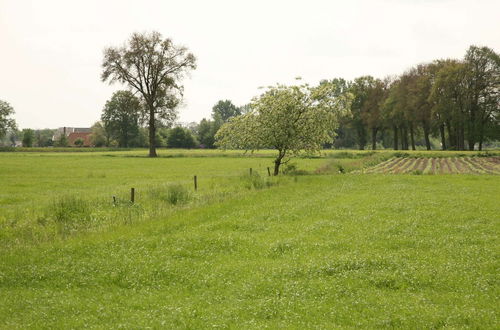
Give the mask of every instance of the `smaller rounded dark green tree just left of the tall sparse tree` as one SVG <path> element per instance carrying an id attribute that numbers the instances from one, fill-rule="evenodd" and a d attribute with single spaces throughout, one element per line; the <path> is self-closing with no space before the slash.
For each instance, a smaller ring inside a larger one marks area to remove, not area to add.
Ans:
<path id="1" fill-rule="evenodd" d="M 130 147 L 139 135 L 141 103 L 129 91 L 117 91 L 104 106 L 101 120 L 109 135 L 122 148 Z"/>

